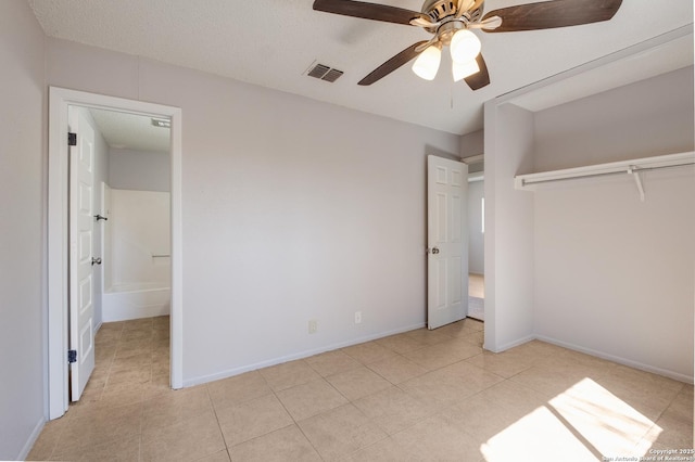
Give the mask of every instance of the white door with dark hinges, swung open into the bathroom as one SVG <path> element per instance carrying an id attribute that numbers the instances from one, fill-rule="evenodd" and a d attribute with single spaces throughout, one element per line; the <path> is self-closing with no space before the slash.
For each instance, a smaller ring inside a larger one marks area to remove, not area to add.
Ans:
<path id="1" fill-rule="evenodd" d="M 70 349 L 71 399 L 77 401 L 94 369 L 92 226 L 94 131 L 81 108 L 71 107 L 70 130 Z"/>

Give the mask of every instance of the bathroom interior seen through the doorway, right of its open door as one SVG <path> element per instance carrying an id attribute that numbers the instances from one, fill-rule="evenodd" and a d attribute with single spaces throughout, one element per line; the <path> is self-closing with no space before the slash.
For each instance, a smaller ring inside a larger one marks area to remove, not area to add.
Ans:
<path id="1" fill-rule="evenodd" d="M 72 120 L 79 120 L 79 127 Z M 81 383 L 88 371 L 71 364 L 71 401 L 108 401 L 124 389 L 168 388 L 170 119 L 70 105 L 68 121 L 78 144 L 89 131 L 90 141 L 83 144 L 92 146 L 93 158 L 89 207 L 93 210 L 88 214 L 93 370 Z M 75 208 L 81 207 L 71 205 L 71 235 Z M 91 326 L 80 329 L 73 342 L 72 316 L 71 309 L 71 350 L 80 361 L 80 352 L 87 350 L 83 339 Z M 84 318 L 81 311 L 78 317 Z"/>

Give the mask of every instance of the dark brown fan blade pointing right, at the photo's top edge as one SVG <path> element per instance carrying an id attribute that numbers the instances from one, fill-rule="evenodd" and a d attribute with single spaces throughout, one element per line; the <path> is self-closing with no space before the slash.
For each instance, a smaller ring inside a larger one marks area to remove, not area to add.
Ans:
<path id="1" fill-rule="evenodd" d="M 502 17 L 502 25 L 489 33 L 549 29 L 610 20 L 622 0 L 552 0 L 502 8 L 485 14 Z"/>

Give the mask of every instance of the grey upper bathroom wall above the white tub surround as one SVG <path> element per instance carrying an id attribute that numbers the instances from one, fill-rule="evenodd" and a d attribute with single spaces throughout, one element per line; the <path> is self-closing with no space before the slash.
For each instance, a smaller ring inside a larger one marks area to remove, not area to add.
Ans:
<path id="1" fill-rule="evenodd" d="M 168 153 L 109 150 L 109 184 L 119 190 L 170 191 Z"/>

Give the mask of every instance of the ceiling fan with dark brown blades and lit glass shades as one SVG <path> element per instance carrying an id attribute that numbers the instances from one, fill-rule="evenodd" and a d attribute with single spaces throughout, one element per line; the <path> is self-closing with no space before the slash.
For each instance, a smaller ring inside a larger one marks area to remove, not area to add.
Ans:
<path id="1" fill-rule="evenodd" d="M 421 27 L 430 40 L 406 48 L 359 80 L 371 85 L 417 56 L 413 70 L 432 80 L 439 69 L 441 50 L 448 47 L 455 81 L 465 79 L 471 90 L 490 84 L 488 66 L 480 53 L 480 39 L 471 33 L 548 29 L 610 20 L 622 0 L 549 0 L 493 10 L 483 15 L 484 0 L 425 0 L 421 12 L 353 0 L 315 0 L 314 10 L 365 20 Z"/>

